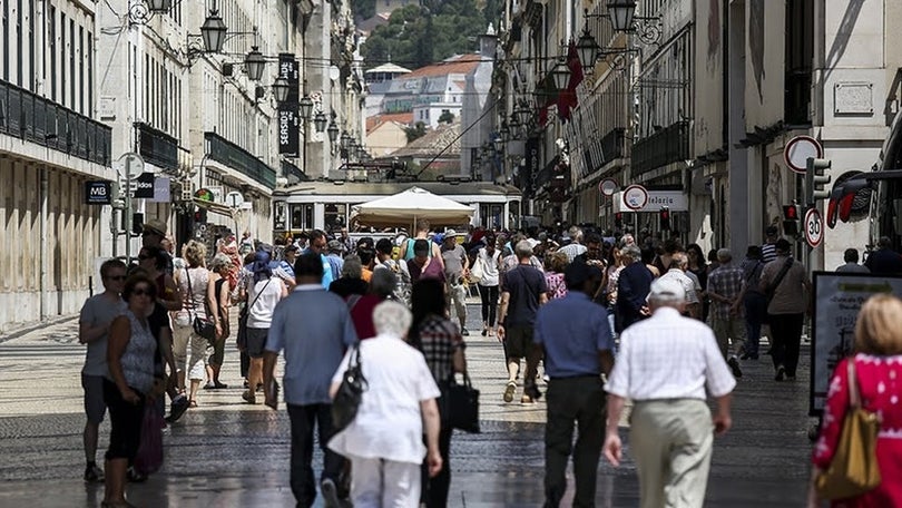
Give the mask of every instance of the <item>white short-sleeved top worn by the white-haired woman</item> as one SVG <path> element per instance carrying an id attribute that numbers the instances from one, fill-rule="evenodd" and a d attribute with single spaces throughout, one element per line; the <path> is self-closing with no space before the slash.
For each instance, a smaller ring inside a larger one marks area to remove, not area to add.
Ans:
<path id="1" fill-rule="evenodd" d="M 390 335 L 360 344 L 369 389 L 354 421 L 329 441 L 329 448 L 345 457 L 422 463 L 427 448 L 420 402 L 441 394 L 423 353 Z M 351 351 L 335 371 L 333 383 L 342 381 Z"/>

